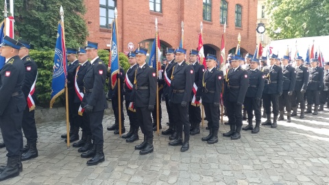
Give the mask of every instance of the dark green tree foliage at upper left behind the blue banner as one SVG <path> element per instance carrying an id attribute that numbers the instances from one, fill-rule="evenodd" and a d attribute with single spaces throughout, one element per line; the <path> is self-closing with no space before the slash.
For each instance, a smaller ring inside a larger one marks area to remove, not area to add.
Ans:
<path id="1" fill-rule="evenodd" d="M 15 31 L 19 38 L 29 40 L 35 49 L 49 51 L 56 45 L 60 5 L 64 9 L 66 47 L 84 45 L 88 35 L 81 0 L 15 0 Z M 3 1 L 0 4 L 3 10 Z M 8 5 L 9 10 L 9 5 Z M 3 14 L 1 15 L 3 18 Z"/>

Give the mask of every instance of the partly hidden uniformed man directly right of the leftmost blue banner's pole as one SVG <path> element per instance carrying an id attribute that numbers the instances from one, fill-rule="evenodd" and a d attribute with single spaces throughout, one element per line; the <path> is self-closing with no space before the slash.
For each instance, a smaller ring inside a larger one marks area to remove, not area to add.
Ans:
<path id="1" fill-rule="evenodd" d="M 75 71 L 77 71 L 77 66 L 79 66 L 79 61 L 77 60 L 77 49 L 66 48 L 66 58 L 70 62 L 67 67 L 67 89 L 69 90 L 69 121 L 70 121 L 70 142 L 79 140 L 79 123 L 77 119 L 77 112 L 74 108 L 74 79 Z M 62 134 L 62 138 L 66 138 L 66 134 Z M 66 139 L 65 139 L 66 142 Z"/>

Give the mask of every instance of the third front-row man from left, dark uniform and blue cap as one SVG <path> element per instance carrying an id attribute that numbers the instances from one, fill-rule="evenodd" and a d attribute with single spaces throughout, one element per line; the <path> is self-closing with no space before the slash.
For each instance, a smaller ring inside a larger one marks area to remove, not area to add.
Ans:
<path id="1" fill-rule="evenodd" d="M 134 101 L 136 107 L 137 122 L 144 134 L 144 141 L 136 145 L 139 154 L 145 155 L 154 151 L 153 147 L 153 127 L 151 112 L 156 104 L 156 69 L 150 67 L 145 62 L 147 49 L 138 48 L 135 51 L 138 68 L 135 71 L 134 79 Z"/>

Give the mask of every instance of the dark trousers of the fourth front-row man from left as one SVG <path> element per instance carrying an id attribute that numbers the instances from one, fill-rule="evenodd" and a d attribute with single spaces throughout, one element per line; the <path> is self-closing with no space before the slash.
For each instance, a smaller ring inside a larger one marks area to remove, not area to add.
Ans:
<path id="1" fill-rule="evenodd" d="M 183 108 L 180 103 L 172 103 L 173 121 L 176 124 L 178 134 L 182 134 L 184 130 L 184 136 L 186 141 L 190 139 L 190 122 L 188 121 L 188 106 Z"/>

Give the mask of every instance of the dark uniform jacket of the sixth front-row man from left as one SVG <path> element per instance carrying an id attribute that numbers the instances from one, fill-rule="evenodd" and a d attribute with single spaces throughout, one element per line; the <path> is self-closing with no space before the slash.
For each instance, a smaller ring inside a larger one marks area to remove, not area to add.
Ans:
<path id="1" fill-rule="evenodd" d="M 232 70 L 233 68 L 228 71 L 226 76 L 228 82 L 224 88 L 224 99 L 225 101 L 243 103 L 249 84 L 248 73 L 241 66 L 234 72 Z"/>

